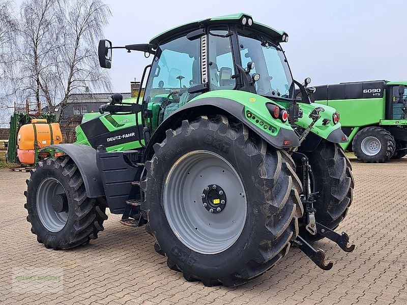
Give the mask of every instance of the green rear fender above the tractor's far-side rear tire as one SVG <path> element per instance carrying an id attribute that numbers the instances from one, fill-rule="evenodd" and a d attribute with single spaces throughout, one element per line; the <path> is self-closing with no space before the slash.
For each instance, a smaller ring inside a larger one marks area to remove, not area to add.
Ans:
<path id="1" fill-rule="evenodd" d="M 316 121 L 315 125 L 311 129 L 311 132 L 317 135 L 318 137 L 321 137 L 334 143 L 345 143 L 348 141 L 347 136 L 342 132 L 340 122 L 338 124 L 333 123 L 332 116 L 336 112 L 335 108 L 313 103 L 312 104 L 299 103 L 299 105 L 303 111 L 303 116 L 302 118 L 298 119 L 298 121 L 295 123 L 296 125 L 303 128 L 307 128 L 312 122 L 312 119 L 309 117 L 311 111 L 314 110 L 316 107 L 323 107 L 325 111 L 319 112 L 319 114 L 321 114 L 321 118 L 319 118 Z M 330 120 L 330 122 L 327 125 L 322 124 L 324 118 Z"/>

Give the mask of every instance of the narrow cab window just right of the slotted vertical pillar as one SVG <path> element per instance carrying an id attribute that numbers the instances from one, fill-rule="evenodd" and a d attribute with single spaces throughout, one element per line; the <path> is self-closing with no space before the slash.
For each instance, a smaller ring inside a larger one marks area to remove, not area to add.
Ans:
<path id="1" fill-rule="evenodd" d="M 233 89 L 236 86 L 233 54 L 227 26 L 209 29 L 209 84 L 211 90 Z"/>

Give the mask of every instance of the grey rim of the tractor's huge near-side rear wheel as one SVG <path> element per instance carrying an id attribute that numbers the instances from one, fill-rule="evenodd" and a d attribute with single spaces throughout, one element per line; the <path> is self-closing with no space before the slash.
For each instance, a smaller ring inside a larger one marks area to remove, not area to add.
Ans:
<path id="1" fill-rule="evenodd" d="M 222 195 L 216 198 L 216 192 Z M 246 223 L 242 181 L 229 162 L 211 151 L 191 151 L 175 162 L 165 180 L 163 199 L 172 231 L 198 253 L 225 251 L 236 242 Z"/>

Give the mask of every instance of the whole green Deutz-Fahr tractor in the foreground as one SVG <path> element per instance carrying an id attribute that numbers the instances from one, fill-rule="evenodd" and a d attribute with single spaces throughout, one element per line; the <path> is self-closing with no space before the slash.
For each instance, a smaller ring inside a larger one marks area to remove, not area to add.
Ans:
<path id="1" fill-rule="evenodd" d="M 310 102 L 310 79 L 293 80 L 287 40 L 247 14 L 181 25 L 148 44 L 101 40 L 103 68 L 114 48 L 152 56 L 145 92 L 112 95 L 103 115 L 77 128 L 77 143 L 47 147 L 54 153 L 25 194 L 38 241 L 88 243 L 109 208 L 144 226 L 169 268 L 206 286 L 244 284 L 291 246 L 332 268 L 310 243 L 355 247 L 334 231 L 352 203 L 347 137 L 334 108 Z"/>

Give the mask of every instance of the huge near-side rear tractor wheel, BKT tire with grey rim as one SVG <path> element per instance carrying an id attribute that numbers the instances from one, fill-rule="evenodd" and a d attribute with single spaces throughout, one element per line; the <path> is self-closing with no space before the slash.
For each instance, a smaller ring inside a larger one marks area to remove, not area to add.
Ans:
<path id="1" fill-rule="evenodd" d="M 184 120 L 146 162 L 155 250 L 187 281 L 238 286 L 289 250 L 303 209 L 293 160 L 225 116 Z"/>

